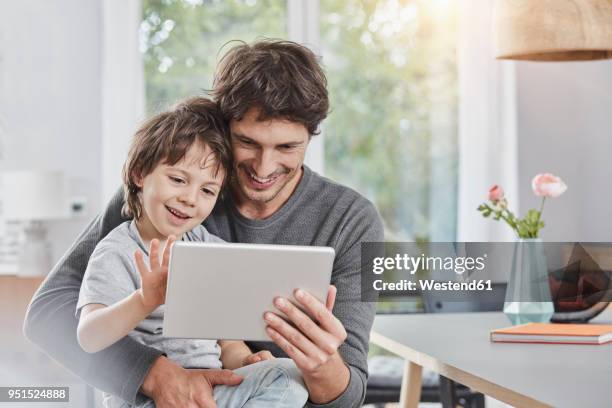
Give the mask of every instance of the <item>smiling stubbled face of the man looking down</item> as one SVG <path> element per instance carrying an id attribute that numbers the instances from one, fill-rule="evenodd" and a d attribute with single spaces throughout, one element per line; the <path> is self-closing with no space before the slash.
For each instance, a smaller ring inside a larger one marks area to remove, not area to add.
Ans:
<path id="1" fill-rule="evenodd" d="M 278 210 L 293 193 L 301 174 L 308 131 L 300 123 L 283 119 L 258 121 L 251 108 L 242 120 L 232 120 L 234 191 L 239 205 L 255 205 L 266 212 Z"/>

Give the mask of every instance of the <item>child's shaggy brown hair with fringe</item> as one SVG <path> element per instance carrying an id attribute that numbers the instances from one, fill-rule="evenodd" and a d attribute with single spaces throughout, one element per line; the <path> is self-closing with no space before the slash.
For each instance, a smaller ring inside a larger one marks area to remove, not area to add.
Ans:
<path id="1" fill-rule="evenodd" d="M 215 102 L 201 97 L 190 98 L 142 124 L 134 135 L 123 166 L 123 215 L 135 219 L 142 215 L 142 203 L 138 197 L 141 189 L 136 185 L 135 177 L 146 177 L 162 162 L 176 164 L 197 141 L 211 149 L 216 161 L 215 175 L 223 170 L 225 184 L 229 178 L 232 153 L 229 129 Z"/>

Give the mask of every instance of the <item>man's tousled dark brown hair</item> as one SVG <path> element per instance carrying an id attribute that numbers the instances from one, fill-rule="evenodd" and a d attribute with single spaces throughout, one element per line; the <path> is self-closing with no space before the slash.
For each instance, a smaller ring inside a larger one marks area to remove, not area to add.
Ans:
<path id="1" fill-rule="evenodd" d="M 258 108 L 259 120 L 301 123 L 311 136 L 329 111 L 327 78 L 316 55 L 291 41 L 265 39 L 231 48 L 219 62 L 212 96 L 228 122 Z"/>

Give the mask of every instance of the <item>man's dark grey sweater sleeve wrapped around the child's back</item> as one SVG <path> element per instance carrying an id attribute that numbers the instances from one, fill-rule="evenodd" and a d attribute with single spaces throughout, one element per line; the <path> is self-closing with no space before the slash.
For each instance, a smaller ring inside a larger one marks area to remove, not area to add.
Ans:
<path id="1" fill-rule="evenodd" d="M 87 262 L 96 244 L 123 221 L 122 205 L 119 191 L 49 273 L 30 302 L 24 332 L 29 340 L 89 384 L 133 404 L 137 395 L 142 398 L 138 390 L 161 352 L 126 336 L 98 353 L 89 354 L 81 349 L 76 337 L 75 310 Z"/>

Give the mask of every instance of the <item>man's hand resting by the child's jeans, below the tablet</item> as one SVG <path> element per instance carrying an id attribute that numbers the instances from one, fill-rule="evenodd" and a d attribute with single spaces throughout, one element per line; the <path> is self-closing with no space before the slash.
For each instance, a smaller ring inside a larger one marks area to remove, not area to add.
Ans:
<path id="1" fill-rule="evenodd" d="M 215 385 L 238 385 L 242 377 L 230 370 L 186 370 L 166 357 L 158 358 L 141 391 L 157 408 L 216 408 Z"/>

